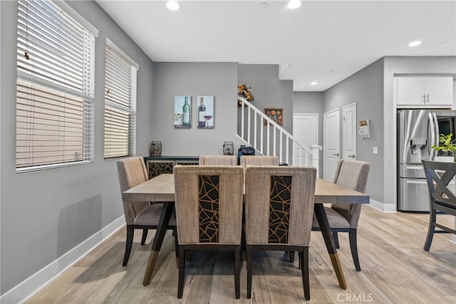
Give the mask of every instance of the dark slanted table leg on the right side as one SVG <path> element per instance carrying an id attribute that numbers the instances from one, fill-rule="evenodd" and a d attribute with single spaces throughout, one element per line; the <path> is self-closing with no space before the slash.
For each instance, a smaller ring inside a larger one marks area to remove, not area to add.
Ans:
<path id="1" fill-rule="evenodd" d="M 314 204 L 314 211 L 316 219 L 318 220 L 318 225 L 320 225 L 321 234 L 326 243 L 326 249 L 329 253 L 329 258 L 331 258 L 331 263 L 333 263 L 334 271 L 336 272 L 337 280 L 339 286 L 342 289 L 347 289 L 347 283 L 345 277 L 343 276 L 341 262 L 336 251 L 336 243 L 334 243 L 333 234 L 331 234 L 331 228 L 329 227 L 328 218 L 326 217 L 326 211 L 323 204 Z"/>

